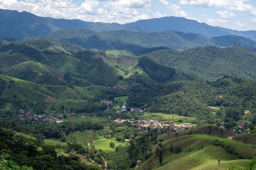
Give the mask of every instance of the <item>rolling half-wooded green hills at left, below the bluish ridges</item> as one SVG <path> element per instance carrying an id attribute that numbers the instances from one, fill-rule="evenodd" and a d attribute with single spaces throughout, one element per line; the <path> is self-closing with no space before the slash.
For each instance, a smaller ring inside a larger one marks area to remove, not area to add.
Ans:
<path id="1" fill-rule="evenodd" d="M 61 51 L 49 51 L 53 46 Z M 127 56 L 132 54 L 128 51 L 117 52 L 121 55 L 115 60 L 97 49 L 67 52 L 70 48 L 72 45 L 46 40 L 8 44 L 0 51 L 0 73 L 38 84 L 113 86 L 120 80 L 118 76 L 127 75 L 137 62 L 135 57 Z"/>

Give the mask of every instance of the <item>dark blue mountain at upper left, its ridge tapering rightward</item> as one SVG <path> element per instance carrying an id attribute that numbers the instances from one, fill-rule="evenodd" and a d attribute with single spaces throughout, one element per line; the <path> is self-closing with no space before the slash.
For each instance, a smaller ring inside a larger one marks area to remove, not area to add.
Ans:
<path id="1" fill-rule="evenodd" d="M 47 35 L 57 30 L 85 27 L 90 24 L 81 20 L 38 17 L 26 11 L 4 9 L 0 9 L 0 18 L 0 38 L 8 38 L 8 40 L 22 40 L 35 35 Z"/>

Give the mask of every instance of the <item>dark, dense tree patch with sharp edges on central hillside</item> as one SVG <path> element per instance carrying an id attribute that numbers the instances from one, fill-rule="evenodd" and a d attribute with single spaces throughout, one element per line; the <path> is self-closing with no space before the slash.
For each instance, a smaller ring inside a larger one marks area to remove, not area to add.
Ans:
<path id="1" fill-rule="evenodd" d="M 138 65 L 156 82 L 166 82 L 175 74 L 175 69 L 159 65 L 147 57 L 139 58 Z"/>

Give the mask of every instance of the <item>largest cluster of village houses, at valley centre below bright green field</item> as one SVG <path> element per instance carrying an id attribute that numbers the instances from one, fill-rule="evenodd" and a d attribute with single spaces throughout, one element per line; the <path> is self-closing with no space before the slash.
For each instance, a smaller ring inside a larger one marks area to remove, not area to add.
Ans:
<path id="1" fill-rule="evenodd" d="M 193 128 L 193 126 L 189 123 L 185 123 L 185 124 L 178 124 L 175 125 L 173 121 L 158 121 L 158 120 L 138 120 L 135 121 L 135 119 L 122 119 L 122 120 L 114 120 L 117 123 L 122 123 L 124 121 L 128 121 L 131 122 L 133 126 L 138 127 L 138 129 L 140 129 L 141 131 L 144 132 L 148 132 L 148 131 L 152 131 L 154 129 L 157 129 L 158 132 L 162 131 L 162 130 L 166 130 L 166 131 L 181 131 L 181 130 L 188 130 Z"/>

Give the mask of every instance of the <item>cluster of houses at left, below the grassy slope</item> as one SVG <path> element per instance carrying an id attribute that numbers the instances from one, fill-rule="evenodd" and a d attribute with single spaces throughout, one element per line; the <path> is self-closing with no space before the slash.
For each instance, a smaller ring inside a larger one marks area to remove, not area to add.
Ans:
<path id="1" fill-rule="evenodd" d="M 25 119 L 33 119 L 35 120 L 34 123 L 39 122 L 40 124 L 43 122 L 49 122 L 49 123 L 53 123 L 56 122 L 57 124 L 62 123 L 63 120 L 60 120 L 56 117 L 50 116 L 50 115 L 35 115 L 34 113 L 32 113 L 31 111 L 29 112 L 25 112 L 23 109 L 20 109 L 19 112 L 19 117 L 21 120 L 25 120 Z"/>

